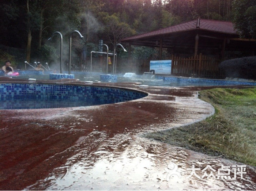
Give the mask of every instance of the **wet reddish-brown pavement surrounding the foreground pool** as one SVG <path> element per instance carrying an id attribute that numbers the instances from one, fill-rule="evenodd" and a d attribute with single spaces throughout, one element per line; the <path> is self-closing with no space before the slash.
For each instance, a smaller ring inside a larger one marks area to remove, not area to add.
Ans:
<path id="1" fill-rule="evenodd" d="M 212 87 L 95 84 L 149 95 L 101 106 L 0 110 L 0 190 L 256 190 L 255 167 L 141 137 L 212 115 L 214 108 L 197 99 L 198 90 Z M 231 179 L 218 177 L 221 168 Z"/>

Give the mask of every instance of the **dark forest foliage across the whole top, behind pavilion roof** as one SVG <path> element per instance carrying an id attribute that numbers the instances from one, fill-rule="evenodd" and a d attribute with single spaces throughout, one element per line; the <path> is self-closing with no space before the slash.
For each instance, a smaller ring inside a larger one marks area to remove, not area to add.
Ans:
<path id="1" fill-rule="evenodd" d="M 26 49 L 30 30 L 31 49 L 45 52 L 40 48 L 49 45 L 47 39 L 53 32 L 60 31 L 64 44 L 68 44 L 71 31 L 79 30 L 84 42 L 97 47 L 102 39 L 113 47 L 127 36 L 197 18 L 233 19 L 242 37 L 256 38 L 255 3 L 253 0 L 1 0 L 0 35 L 4 38 L 0 38 L 0 44 Z M 85 45 L 77 46 L 77 51 L 82 51 L 81 47 Z M 35 51 L 31 52 L 31 57 L 37 56 Z"/>

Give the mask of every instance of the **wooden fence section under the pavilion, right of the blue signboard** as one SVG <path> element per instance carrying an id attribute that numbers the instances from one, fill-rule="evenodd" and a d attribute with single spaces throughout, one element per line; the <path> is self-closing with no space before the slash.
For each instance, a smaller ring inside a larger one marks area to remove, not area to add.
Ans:
<path id="1" fill-rule="evenodd" d="M 185 77 L 220 78 L 219 60 L 199 54 L 195 57 L 172 56 L 172 75 Z"/>

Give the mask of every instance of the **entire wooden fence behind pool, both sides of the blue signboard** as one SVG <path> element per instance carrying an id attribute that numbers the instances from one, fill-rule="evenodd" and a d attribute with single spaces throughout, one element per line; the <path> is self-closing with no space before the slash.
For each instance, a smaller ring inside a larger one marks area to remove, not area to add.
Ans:
<path id="1" fill-rule="evenodd" d="M 113 62 L 113 57 L 111 57 Z M 202 78 L 221 78 L 222 73 L 219 71 L 219 60 L 213 57 L 204 56 L 199 54 L 197 56 L 191 56 L 189 58 L 181 58 L 172 56 L 169 58 L 172 60 L 171 74 L 173 76 L 184 77 L 202 77 Z M 103 57 L 100 61 L 99 57 L 93 57 L 92 71 L 93 72 L 106 72 L 106 57 Z M 71 65 L 71 70 L 83 70 L 90 71 L 90 58 L 87 58 L 83 64 Z M 150 70 L 150 59 L 136 60 L 131 58 L 117 57 L 117 73 L 133 72 L 137 74 L 143 74 Z M 113 63 L 108 65 L 108 73 L 113 73 Z"/>

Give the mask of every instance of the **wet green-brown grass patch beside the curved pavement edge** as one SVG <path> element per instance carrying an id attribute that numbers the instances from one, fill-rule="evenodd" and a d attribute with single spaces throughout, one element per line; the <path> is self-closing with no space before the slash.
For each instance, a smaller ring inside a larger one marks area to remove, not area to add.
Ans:
<path id="1" fill-rule="evenodd" d="M 256 88 L 209 89 L 199 98 L 215 107 L 213 116 L 144 136 L 256 166 Z"/>

